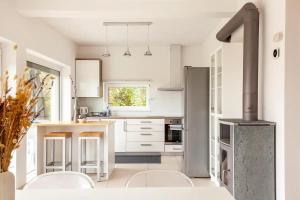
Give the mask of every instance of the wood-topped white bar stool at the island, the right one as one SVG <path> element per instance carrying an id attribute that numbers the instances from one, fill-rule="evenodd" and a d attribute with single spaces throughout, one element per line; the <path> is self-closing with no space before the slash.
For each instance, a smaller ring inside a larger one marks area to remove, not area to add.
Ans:
<path id="1" fill-rule="evenodd" d="M 96 169 L 97 171 L 97 181 L 101 181 L 101 173 L 103 172 L 103 162 L 101 161 L 101 137 L 103 137 L 104 132 L 81 132 L 78 138 L 78 170 L 79 172 L 86 173 L 87 169 Z M 87 151 L 87 141 L 95 141 L 95 160 L 88 160 Z"/>

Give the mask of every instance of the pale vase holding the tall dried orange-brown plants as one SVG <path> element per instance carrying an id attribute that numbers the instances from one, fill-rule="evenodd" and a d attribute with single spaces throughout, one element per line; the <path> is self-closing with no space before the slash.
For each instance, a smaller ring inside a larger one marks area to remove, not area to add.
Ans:
<path id="1" fill-rule="evenodd" d="M 11 172 L 0 173 L 0 200 L 15 200 L 15 176 Z"/>

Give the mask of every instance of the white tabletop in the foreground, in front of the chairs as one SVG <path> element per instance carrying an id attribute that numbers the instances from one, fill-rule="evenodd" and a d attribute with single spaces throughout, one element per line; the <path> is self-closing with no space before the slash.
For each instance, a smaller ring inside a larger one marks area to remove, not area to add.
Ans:
<path id="1" fill-rule="evenodd" d="M 222 187 L 17 190 L 16 200 L 234 200 Z"/>

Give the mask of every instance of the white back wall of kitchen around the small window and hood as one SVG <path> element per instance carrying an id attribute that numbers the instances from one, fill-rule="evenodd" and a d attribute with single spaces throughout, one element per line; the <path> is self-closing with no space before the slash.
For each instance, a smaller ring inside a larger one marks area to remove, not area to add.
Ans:
<path id="1" fill-rule="evenodd" d="M 150 112 L 118 112 L 116 115 L 182 116 L 182 92 L 157 91 L 170 83 L 169 46 L 151 47 L 153 56 L 144 56 L 145 47 L 130 48 L 132 56 L 124 57 L 125 47 L 110 47 L 111 57 L 101 57 L 103 48 L 79 47 L 79 58 L 101 58 L 104 81 L 150 80 Z"/>

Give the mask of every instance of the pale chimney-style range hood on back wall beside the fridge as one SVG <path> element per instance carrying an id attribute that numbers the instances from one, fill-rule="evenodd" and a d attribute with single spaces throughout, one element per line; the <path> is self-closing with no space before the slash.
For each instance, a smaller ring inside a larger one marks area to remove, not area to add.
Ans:
<path id="1" fill-rule="evenodd" d="M 159 91 L 176 92 L 183 91 L 183 66 L 181 64 L 182 46 L 173 44 L 170 46 L 170 83 Z"/>

